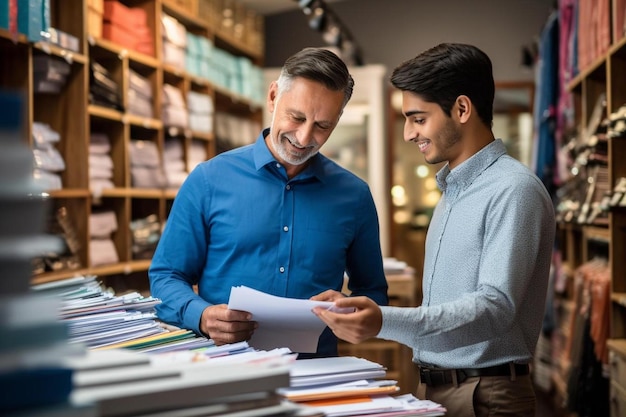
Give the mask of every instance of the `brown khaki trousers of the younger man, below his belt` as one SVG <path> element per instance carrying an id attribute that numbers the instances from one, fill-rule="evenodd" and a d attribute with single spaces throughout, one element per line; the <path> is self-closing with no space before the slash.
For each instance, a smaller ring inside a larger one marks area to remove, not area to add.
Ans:
<path id="1" fill-rule="evenodd" d="M 534 417 L 537 406 L 530 375 L 474 377 L 437 387 L 419 382 L 417 398 L 443 405 L 450 417 Z"/>

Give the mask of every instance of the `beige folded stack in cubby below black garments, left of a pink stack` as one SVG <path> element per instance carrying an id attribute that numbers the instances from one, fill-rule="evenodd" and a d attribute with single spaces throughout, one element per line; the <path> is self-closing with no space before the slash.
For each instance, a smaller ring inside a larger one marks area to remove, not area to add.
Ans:
<path id="1" fill-rule="evenodd" d="M 100 195 L 105 188 L 114 188 L 111 141 L 106 133 L 91 132 L 89 138 L 89 188 Z"/>

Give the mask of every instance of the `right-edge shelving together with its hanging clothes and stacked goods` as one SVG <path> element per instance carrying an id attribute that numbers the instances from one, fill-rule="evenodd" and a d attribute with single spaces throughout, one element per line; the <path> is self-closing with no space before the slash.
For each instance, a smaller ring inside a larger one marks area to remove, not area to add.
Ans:
<path id="1" fill-rule="evenodd" d="M 553 358 L 550 381 L 567 411 L 618 417 L 626 413 L 626 212 L 621 204 L 626 141 L 623 123 L 620 127 L 626 38 L 619 26 L 623 17 L 611 19 L 610 10 L 623 16 L 626 3 L 581 0 L 560 8 L 561 99 L 569 110 L 556 125 L 563 142 L 557 157 L 564 169 L 556 191 L 558 250 L 546 334 Z"/>

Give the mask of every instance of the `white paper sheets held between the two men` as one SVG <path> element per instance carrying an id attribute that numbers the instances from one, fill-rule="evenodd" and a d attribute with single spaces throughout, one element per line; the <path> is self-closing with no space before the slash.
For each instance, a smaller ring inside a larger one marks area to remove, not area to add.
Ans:
<path id="1" fill-rule="evenodd" d="M 252 320 L 259 323 L 248 341 L 250 346 L 263 350 L 287 347 L 300 353 L 315 352 L 326 327 L 311 311 L 316 306 L 331 308 L 334 303 L 277 297 L 245 286 L 232 287 L 228 300 L 229 309 L 252 313 Z"/>

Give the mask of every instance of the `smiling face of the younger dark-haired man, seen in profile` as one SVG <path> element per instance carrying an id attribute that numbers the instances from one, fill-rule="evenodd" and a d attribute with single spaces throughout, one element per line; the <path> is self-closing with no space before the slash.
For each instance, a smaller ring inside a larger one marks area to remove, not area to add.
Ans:
<path id="1" fill-rule="evenodd" d="M 405 116 L 404 140 L 416 143 L 426 162 L 438 164 L 447 161 L 450 168 L 454 168 L 466 159 L 461 126 L 455 120 L 454 111 L 449 117 L 438 104 L 403 91 L 402 113 Z"/>

